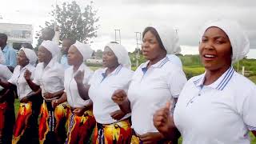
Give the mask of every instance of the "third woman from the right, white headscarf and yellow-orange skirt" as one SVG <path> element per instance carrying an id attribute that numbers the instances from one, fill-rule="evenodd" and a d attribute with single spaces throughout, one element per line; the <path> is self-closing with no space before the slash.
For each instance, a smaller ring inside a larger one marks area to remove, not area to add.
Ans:
<path id="1" fill-rule="evenodd" d="M 105 46 L 102 60 L 106 68 L 96 70 L 89 82 L 97 122 L 93 143 L 130 142 L 130 114 L 124 114 L 111 100 L 114 90 L 128 90 L 133 75 L 128 52 L 124 46 L 110 42 Z"/>

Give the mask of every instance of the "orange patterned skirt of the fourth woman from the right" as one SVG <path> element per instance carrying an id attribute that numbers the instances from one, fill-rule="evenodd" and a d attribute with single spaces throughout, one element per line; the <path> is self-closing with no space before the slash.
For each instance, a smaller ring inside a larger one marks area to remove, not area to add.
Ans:
<path id="1" fill-rule="evenodd" d="M 90 136 L 94 130 L 96 121 L 92 110 L 86 110 L 82 116 L 69 111 L 68 134 L 66 144 L 86 144 L 90 142 Z"/>

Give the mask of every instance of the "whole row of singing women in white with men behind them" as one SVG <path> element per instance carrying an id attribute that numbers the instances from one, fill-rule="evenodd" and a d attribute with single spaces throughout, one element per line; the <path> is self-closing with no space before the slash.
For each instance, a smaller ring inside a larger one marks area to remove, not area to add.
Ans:
<path id="1" fill-rule="evenodd" d="M 106 44 L 104 68 L 93 71 L 90 46 L 65 38 L 59 62 L 53 37 L 43 31 L 38 54 L 22 46 L 15 66 L 0 34 L 0 143 L 163 144 L 182 136 L 184 144 L 249 144 L 249 131 L 256 135 L 256 86 L 232 67 L 250 49 L 237 22 L 206 23 L 198 49 L 206 72 L 188 81 L 169 55 L 181 50 L 170 26 L 143 30 L 147 62 L 135 71 L 117 42 Z"/>

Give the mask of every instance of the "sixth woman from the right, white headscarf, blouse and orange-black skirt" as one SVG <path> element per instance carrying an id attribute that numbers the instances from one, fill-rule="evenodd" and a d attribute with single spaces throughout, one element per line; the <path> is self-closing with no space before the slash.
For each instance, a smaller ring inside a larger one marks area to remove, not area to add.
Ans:
<path id="1" fill-rule="evenodd" d="M 34 53 L 34 50 L 21 48 L 17 57 L 18 66 L 15 67 L 14 74 L 8 82 L 4 83 L 5 87 L 11 87 L 12 85 L 17 87 L 18 99 L 20 100 L 12 143 L 26 143 L 31 140 L 28 138 L 34 136 L 33 134 L 36 132 L 33 130 L 36 130 L 37 127 L 39 107 L 37 106 L 38 101 L 32 102 L 32 100 L 38 99 L 34 98 L 38 94 L 30 89 L 24 78 L 26 70 L 30 70 L 34 76 L 36 61 L 37 55 Z M 33 114 L 32 111 L 34 111 Z"/>

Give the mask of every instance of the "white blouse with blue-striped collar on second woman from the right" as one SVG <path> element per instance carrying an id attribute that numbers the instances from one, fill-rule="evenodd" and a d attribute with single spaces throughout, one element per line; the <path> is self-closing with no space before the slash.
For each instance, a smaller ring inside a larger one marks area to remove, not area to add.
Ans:
<path id="1" fill-rule="evenodd" d="M 168 58 L 147 70 L 148 63 L 143 63 L 135 71 L 128 90 L 132 127 L 138 134 L 158 132 L 153 123 L 155 111 L 165 106 L 167 101 L 178 98 L 186 83 L 182 69 Z"/>

